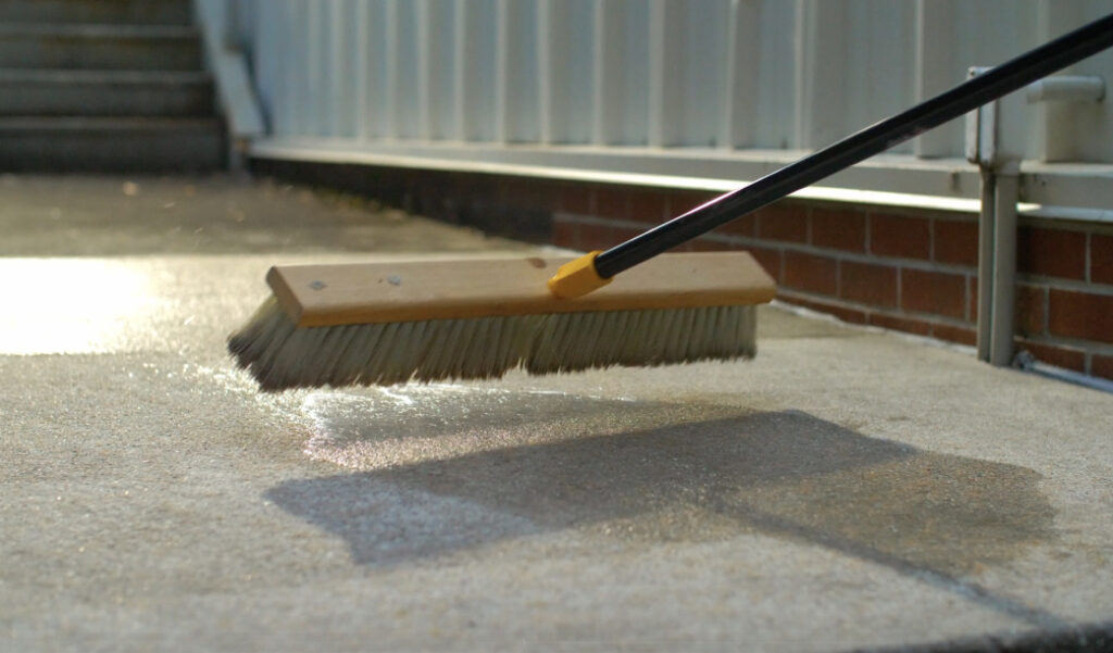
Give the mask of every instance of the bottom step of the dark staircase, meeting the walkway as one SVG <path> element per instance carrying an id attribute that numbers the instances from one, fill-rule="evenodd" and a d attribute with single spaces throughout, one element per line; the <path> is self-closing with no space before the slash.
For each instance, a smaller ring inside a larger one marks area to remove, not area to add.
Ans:
<path id="1" fill-rule="evenodd" d="M 0 171 L 204 171 L 225 156 L 215 118 L 0 118 Z"/>

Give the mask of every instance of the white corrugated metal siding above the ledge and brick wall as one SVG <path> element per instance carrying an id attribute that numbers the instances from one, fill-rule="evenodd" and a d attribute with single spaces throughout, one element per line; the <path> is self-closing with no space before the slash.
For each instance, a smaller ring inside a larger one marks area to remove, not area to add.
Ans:
<path id="1" fill-rule="evenodd" d="M 628 161 L 662 148 L 701 165 L 790 158 L 1113 11 L 1113 0 L 233 1 L 272 145 L 474 160 L 533 146 L 542 166 L 569 165 L 559 155 L 573 146 Z M 1113 81 L 1113 52 L 1068 72 Z M 1002 140 L 1026 160 L 1113 164 L 1113 102 L 1017 97 L 1008 110 Z M 895 154 L 957 161 L 963 138 L 955 121 Z M 718 176 L 754 170 L 723 164 Z"/>

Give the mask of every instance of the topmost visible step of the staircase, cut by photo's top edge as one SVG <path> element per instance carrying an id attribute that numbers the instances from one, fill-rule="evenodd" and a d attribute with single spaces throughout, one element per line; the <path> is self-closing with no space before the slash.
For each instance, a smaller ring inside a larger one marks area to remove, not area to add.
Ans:
<path id="1" fill-rule="evenodd" d="M 189 0 L 0 0 L 0 23 L 190 24 Z"/>

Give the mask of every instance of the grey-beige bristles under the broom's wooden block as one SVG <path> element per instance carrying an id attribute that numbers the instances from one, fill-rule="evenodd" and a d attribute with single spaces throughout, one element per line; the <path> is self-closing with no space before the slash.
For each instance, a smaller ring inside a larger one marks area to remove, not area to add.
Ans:
<path id="1" fill-rule="evenodd" d="M 297 328 L 270 297 L 228 350 L 282 390 L 749 358 L 756 326 L 756 307 L 742 305 Z"/>

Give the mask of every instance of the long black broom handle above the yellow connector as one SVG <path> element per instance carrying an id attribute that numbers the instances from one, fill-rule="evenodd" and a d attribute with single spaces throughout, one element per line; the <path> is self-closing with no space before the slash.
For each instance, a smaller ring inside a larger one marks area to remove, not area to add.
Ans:
<path id="1" fill-rule="evenodd" d="M 613 277 L 1110 46 L 1113 46 L 1113 13 L 600 253 L 595 257 L 595 273 L 603 278 Z"/>

